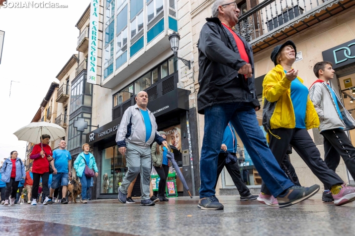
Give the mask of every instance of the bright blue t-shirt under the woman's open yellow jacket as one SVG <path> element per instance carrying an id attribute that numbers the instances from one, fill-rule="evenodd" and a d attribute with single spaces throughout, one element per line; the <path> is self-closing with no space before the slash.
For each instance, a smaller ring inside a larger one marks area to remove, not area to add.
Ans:
<path id="1" fill-rule="evenodd" d="M 286 71 L 285 71 L 286 73 Z M 298 78 L 291 82 L 291 101 L 296 118 L 296 128 L 306 128 L 308 89 Z"/>

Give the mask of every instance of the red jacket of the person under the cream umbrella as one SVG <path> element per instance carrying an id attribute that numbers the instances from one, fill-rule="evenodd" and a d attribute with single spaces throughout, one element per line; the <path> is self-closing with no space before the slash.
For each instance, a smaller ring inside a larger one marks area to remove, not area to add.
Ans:
<path id="1" fill-rule="evenodd" d="M 48 156 L 52 156 L 52 149 L 49 145 L 43 144 L 43 151 L 45 151 L 45 157 L 42 158 L 40 152 L 42 151 L 41 143 L 34 145 L 30 159 L 33 159 L 32 173 L 43 174 L 49 172 Z"/>

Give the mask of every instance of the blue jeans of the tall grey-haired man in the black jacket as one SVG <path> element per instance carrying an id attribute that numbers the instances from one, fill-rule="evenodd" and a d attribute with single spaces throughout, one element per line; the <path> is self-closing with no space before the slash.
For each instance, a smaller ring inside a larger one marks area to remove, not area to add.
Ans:
<path id="1" fill-rule="evenodd" d="M 218 154 L 229 121 L 242 140 L 256 169 L 274 197 L 294 184 L 278 165 L 266 144 L 251 103 L 225 103 L 207 107 L 200 158 L 200 198 L 215 195 Z"/>

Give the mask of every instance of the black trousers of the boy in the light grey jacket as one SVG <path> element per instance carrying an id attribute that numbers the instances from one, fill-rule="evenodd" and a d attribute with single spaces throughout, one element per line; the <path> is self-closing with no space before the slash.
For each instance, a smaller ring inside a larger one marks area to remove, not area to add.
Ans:
<path id="1" fill-rule="evenodd" d="M 321 134 L 324 137 L 324 161 L 329 169 L 335 171 L 339 166 L 340 157 L 342 157 L 345 166 L 355 179 L 355 147 L 344 129 L 324 130 Z"/>

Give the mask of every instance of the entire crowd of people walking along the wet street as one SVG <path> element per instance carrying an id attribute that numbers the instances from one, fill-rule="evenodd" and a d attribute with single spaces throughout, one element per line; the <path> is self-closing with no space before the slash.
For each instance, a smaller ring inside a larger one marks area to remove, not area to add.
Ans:
<path id="1" fill-rule="evenodd" d="M 224 209 L 215 196 L 224 167 L 238 188 L 241 201 L 257 199 L 268 206 L 287 207 L 313 196 L 320 186 L 301 186 L 288 158 L 292 148 L 324 184 L 323 201 L 334 201 L 336 206 L 354 201 L 355 188 L 347 186 L 335 172 L 342 157 L 355 177 L 355 148 L 345 132 L 355 128 L 355 120 L 329 85 L 334 78 L 332 63 L 321 61 L 314 65 L 315 81 L 308 89 L 293 67 L 296 45 L 292 41 L 277 45 L 270 55 L 274 67 L 263 81 L 261 105 L 255 88 L 252 46 L 233 28 L 239 14 L 234 1 L 215 0 L 212 17 L 206 19 L 197 44 L 200 85 L 197 105 L 198 113 L 204 115 L 205 134 L 200 157 L 198 207 Z M 158 132 L 155 117 L 147 109 L 148 94 L 139 92 L 135 101 L 136 104 L 124 112 L 116 134 L 118 150 L 125 156 L 128 168 L 118 188 L 118 200 L 135 202 L 131 193 L 140 174 L 140 205 L 154 206 L 159 201 L 168 201 L 165 189 L 171 165 L 167 155 L 171 149 L 167 134 Z M 266 136 L 256 116 L 261 106 Z M 324 161 L 307 131 L 311 128 L 319 128 L 324 137 Z M 250 193 L 241 178 L 238 162 L 226 162 L 228 155 L 236 156 L 236 133 L 262 177 L 259 195 Z M 60 203 L 68 203 L 72 158 L 65 150 L 64 140 L 60 141 L 59 149 L 52 152 L 49 139 L 50 136 L 44 134 L 42 142 L 34 146 L 30 155 L 33 165 L 27 173 L 17 152 L 11 152 L 1 168 L 1 204 L 14 204 L 18 188 L 21 189 L 18 195 L 23 189 L 31 205 L 37 205 L 40 192 L 43 205 L 52 204 L 58 197 Z M 87 203 L 98 169 L 89 144 L 82 148 L 73 166 L 81 182 L 81 202 Z M 153 194 L 150 179 L 152 166 L 160 177 L 157 196 Z"/>

